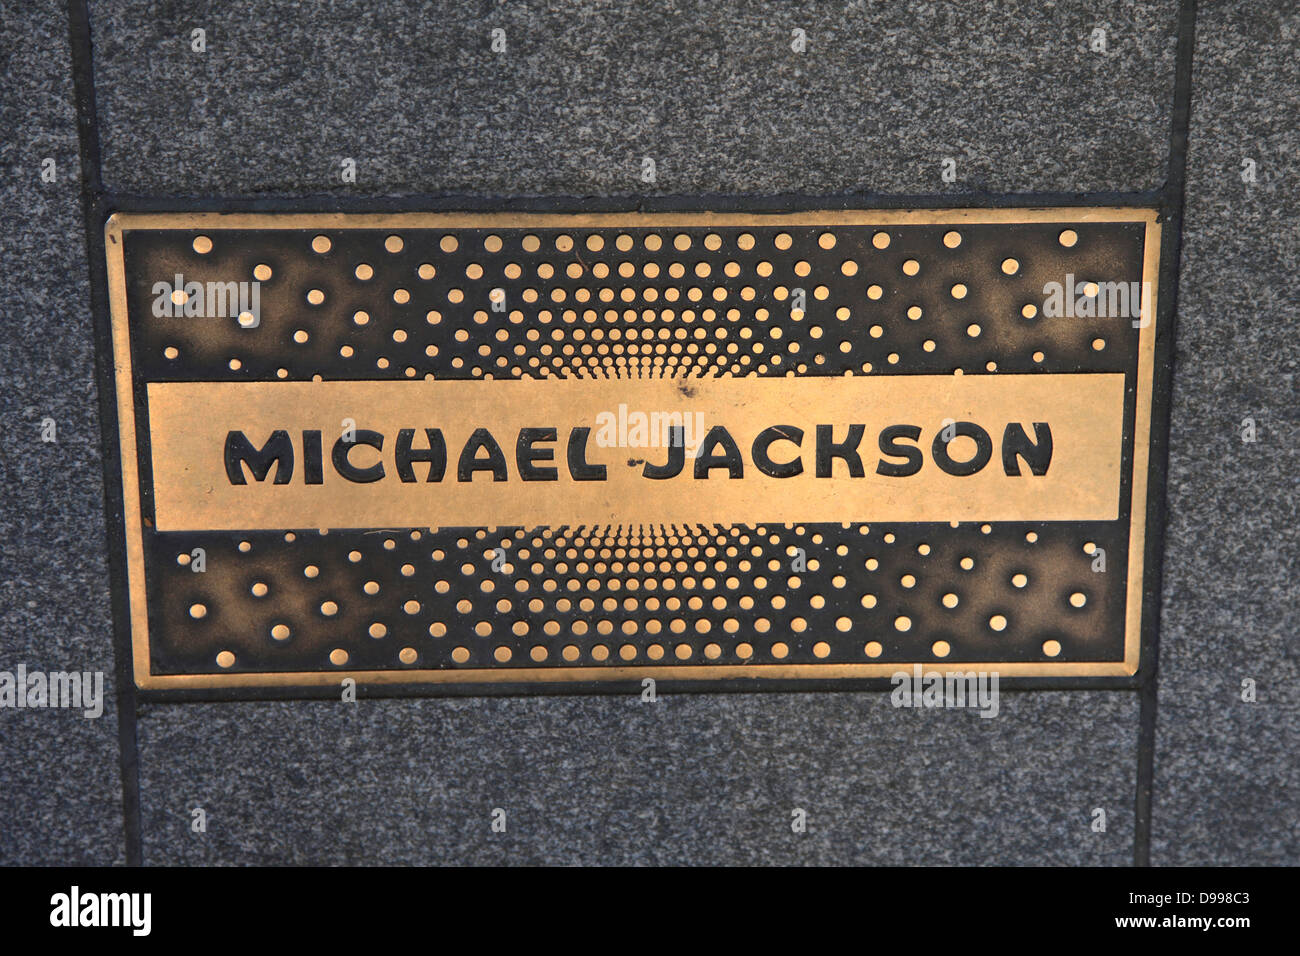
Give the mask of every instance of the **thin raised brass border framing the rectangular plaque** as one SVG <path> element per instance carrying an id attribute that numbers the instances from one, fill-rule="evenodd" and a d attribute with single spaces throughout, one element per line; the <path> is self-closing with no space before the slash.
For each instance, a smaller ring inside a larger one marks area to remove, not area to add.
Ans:
<path id="1" fill-rule="evenodd" d="M 806 202 L 806 200 L 805 200 Z M 984 225 L 1017 222 L 1143 222 L 1141 281 L 1152 289 L 1150 321 L 1141 328 L 1138 345 L 1136 397 L 1134 420 L 1132 483 L 1130 498 L 1128 574 L 1126 583 L 1124 657 L 1122 661 L 1040 661 L 1040 662 L 926 662 L 927 670 L 997 671 L 1010 678 L 1009 689 L 1057 685 L 1131 687 L 1139 671 L 1149 670 L 1144 656 L 1154 646 L 1154 615 L 1158 594 L 1150 592 L 1158 581 L 1160 516 L 1152 514 L 1153 501 L 1164 497 L 1165 460 L 1152 455 L 1152 427 L 1165 424 L 1167 395 L 1156 390 L 1156 378 L 1169 381 L 1169 326 L 1171 307 L 1164 307 L 1160 277 L 1165 271 L 1164 216 L 1154 206 L 998 206 L 998 207 L 919 207 L 818 208 L 801 203 L 781 209 L 776 204 L 746 209 L 744 204 L 697 200 L 696 208 L 645 211 L 586 211 L 556 208 L 445 212 L 415 211 L 185 211 L 156 209 L 112 212 L 104 224 L 104 250 L 108 267 L 108 338 L 112 350 L 113 407 L 116 408 L 117 454 L 122 492 L 121 532 L 125 545 L 125 614 L 131 646 L 135 687 L 166 698 L 300 697 L 333 696 L 339 683 L 352 678 L 368 696 L 433 696 L 488 693 L 615 693 L 640 691 L 640 682 L 654 678 L 663 689 L 751 691 L 751 689 L 883 689 L 889 675 L 910 667 L 898 662 L 855 663 L 728 663 L 728 665 L 628 665 L 575 667 L 502 669 L 411 669 L 230 672 L 155 675 L 150 669 L 148 620 L 144 597 L 144 553 L 140 518 L 138 446 L 135 434 L 134 382 L 127 328 L 124 234 L 133 229 L 417 229 L 417 228 L 664 228 L 664 226 L 744 226 L 744 225 Z M 1157 360 L 1160 359 L 1160 369 Z M 105 428 L 105 446 L 109 432 Z M 1165 436 L 1158 436 L 1164 441 Z M 107 450 L 107 449 L 105 449 Z M 1153 467 L 1160 472 L 1153 475 Z M 1154 492 L 1154 493 L 1153 493 Z M 1154 520 L 1153 520 L 1154 518 Z M 1153 567 L 1156 562 L 1156 567 Z M 1143 641 L 1144 630 L 1150 640 Z M 1032 679 L 1018 684 L 1017 679 Z M 1044 683 L 1043 679 L 1046 679 Z M 1110 680 L 1106 680 L 1110 679 Z"/>

